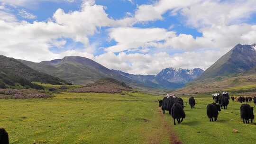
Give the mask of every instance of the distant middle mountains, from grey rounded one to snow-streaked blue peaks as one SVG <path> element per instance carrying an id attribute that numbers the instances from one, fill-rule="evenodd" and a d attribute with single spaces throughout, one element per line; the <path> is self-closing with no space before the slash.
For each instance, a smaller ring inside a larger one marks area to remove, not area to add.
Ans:
<path id="1" fill-rule="evenodd" d="M 177 89 L 183 87 L 185 83 L 193 81 L 203 72 L 199 68 L 193 70 L 168 68 L 157 75 L 135 75 L 110 70 L 91 59 L 79 56 L 67 56 L 63 59 L 40 63 L 19 61 L 39 72 L 81 85 L 93 83 L 101 78 L 113 78 L 135 88 Z"/>

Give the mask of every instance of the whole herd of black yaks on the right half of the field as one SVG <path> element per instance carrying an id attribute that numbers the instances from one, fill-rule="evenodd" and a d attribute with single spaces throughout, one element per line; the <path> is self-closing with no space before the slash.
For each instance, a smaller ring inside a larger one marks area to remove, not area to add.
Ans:
<path id="1" fill-rule="evenodd" d="M 213 103 L 207 105 L 206 107 L 206 114 L 210 119 L 210 122 L 216 121 L 219 115 L 219 111 L 221 109 L 227 109 L 227 106 L 229 105 L 229 93 L 228 92 L 222 92 L 222 93 L 216 93 L 213 94 L 212 99 L 214 100 Z M 235 99 L 238 102 L 246 102 L 246 104 L 242 104 L 240 107 L 240 116 L 243 119 L 244 123 L 249 124 L 249 119 L 251 120 L 251 123 L 254 119 L 254 113 L 253 108 L 250 105 L 247 104 L 247 102 L 252 102 L 252 99 L 254 100 L 254 103 L 256 104 L 256 97 L 231 97 L 232 101 L 235 101 Z M 165 114 L 165 111 L 168 111 L 169 114 L 174 119 L 174 125 L 176 125 L 175 120 L 177 120 L 178 124 L 180 124 L 183 119 L 186 117 L 186 114 L 184 112 L 184 103 L 182 98 L 175 97 L 174 95 L 167 94 L 164 99 L 157 99 L 159 102 L 159 107 L 162 107 L 163 113 Z M 189 98 L 189 105 L 191 108 L 195 108 L 195 99 L 194 97 Z"/>

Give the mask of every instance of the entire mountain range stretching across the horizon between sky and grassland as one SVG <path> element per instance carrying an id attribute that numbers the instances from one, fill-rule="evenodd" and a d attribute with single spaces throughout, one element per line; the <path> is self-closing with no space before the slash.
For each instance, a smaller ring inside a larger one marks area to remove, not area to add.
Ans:
<path id="1" fill-rule="evenodd" d="M 205 92 L 255 84 L 256 44 L 236 45 L 205 72 L 200 68 L 191 70 L 166 68 L 156 75 L 137 75 L 110 70 L 91 59 L 79 56 L 34 63 L 0 55 L 2 87 L 20 83 L 20 81 L 87 85 L 102 78 L 116 79 L 133 88 L 167 90 L 181 88 L 176 90 L 179 93 Z"/>

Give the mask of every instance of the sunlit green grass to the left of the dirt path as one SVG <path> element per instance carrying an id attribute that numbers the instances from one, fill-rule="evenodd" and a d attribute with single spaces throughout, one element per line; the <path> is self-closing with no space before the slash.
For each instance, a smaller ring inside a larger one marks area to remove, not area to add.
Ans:
<path id="1" fill-rule="evenodd" d="M 155 100 L 141 93 L 0 99 L 0 127 L 10 144 L 167 144 Z"/>

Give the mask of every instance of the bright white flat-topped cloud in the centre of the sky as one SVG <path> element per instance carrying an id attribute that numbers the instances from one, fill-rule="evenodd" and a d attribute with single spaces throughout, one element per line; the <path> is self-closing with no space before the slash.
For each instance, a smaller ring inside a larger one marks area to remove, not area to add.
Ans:
<path id="1" fill-rule="evenodd" d="M 122 52 L 140 47 L 155 47 L 159 41 L 175 36 L 175 32 L 166 31 L 163 28 L 117 27 L 110 29 L 109 36 L 118 44 L 107 47 L 105 50 L 108 52 Z"/>

